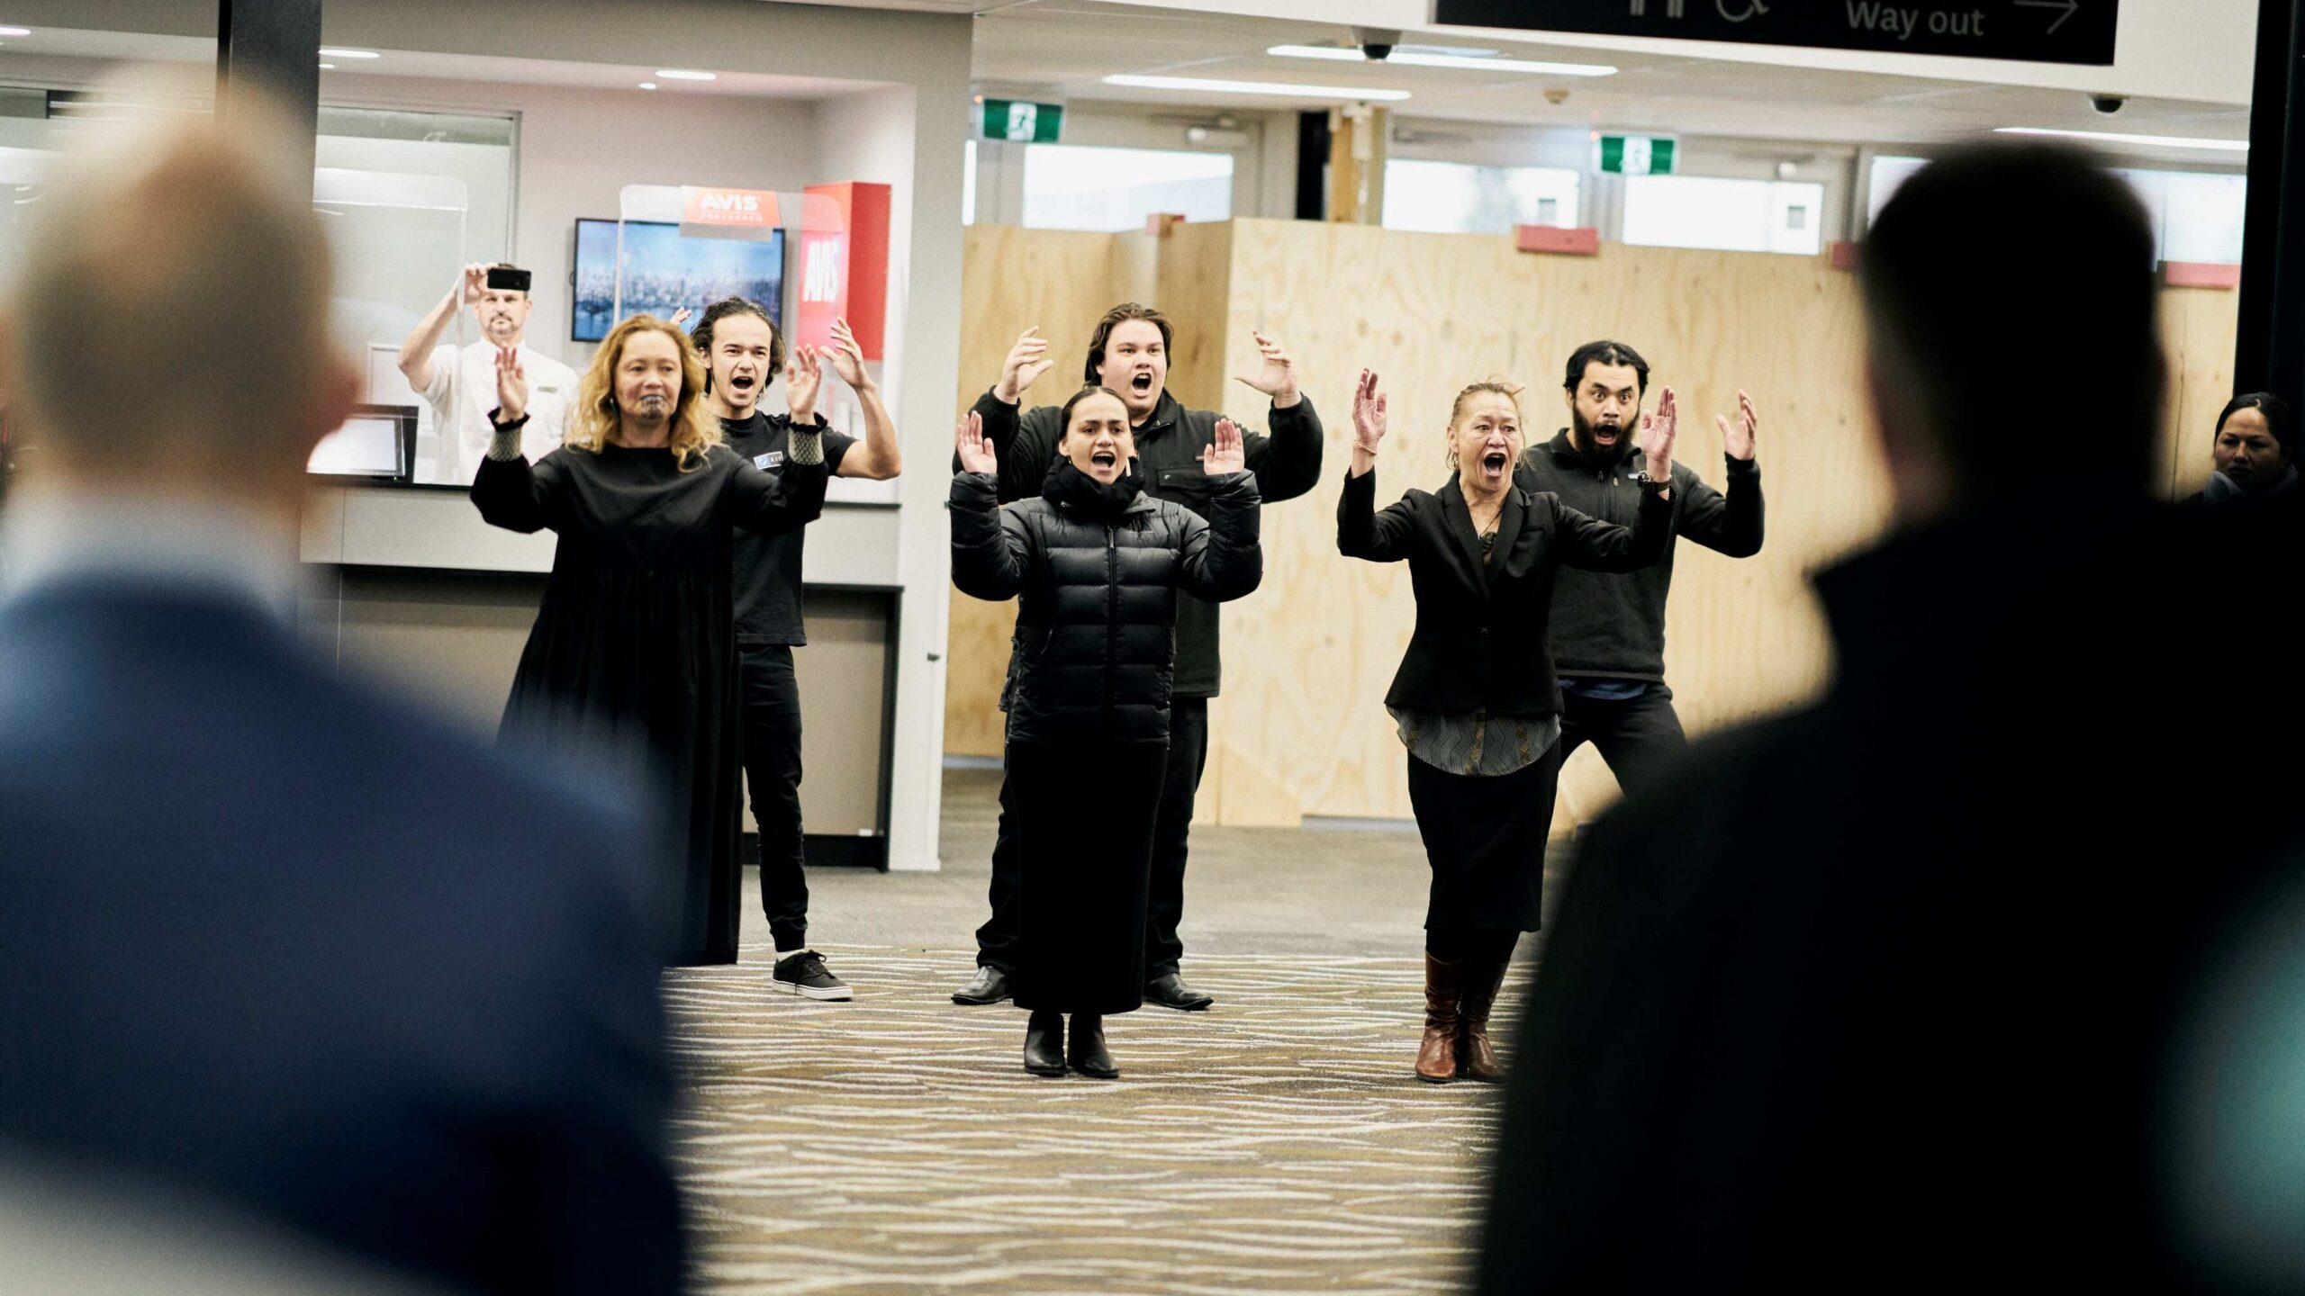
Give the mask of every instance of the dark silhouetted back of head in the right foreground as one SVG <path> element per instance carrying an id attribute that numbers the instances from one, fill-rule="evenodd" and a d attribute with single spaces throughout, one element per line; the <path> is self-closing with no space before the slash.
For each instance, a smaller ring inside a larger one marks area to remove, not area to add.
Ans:
<path id="1" fill-rule="evenodd" d="M 2121 178 L 2063 145 L 1950 152 L 1881 208 L 1862 284 L 1899 523 L 2081 480 L 2146 491 L 2167 362 L 2153 224 Z M 2028 431 L 2045 406 L 2058 436 Z"/>

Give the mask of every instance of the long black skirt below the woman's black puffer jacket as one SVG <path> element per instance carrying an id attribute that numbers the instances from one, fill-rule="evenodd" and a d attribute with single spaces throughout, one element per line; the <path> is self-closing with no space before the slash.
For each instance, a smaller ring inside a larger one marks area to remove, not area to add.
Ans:
<path id="1" fill-rule="evenodd" d="M 1017 1008 L 1134 1012 L 1166 743 L 1010 743 Z"/>

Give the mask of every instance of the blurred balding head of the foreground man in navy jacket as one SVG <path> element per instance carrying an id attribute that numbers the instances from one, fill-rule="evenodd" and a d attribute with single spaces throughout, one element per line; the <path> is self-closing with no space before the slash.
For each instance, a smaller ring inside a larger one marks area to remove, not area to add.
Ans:
<path id="1" fill-rule="evenodd" d="M 124 122 L 60 166 L 0 314 L 28 487 L 295 510 L 357 397 L 302 157 L 284 115 L 235 104 L 228 127 Z"/>

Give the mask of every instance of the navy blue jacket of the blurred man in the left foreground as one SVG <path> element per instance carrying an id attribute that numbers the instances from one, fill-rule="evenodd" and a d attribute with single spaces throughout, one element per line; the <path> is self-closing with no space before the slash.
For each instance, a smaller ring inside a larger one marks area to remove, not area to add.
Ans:
<path id="1" fill-rule="evenodd" d="M 682 1287 L 629 786 L 205 588 L 44 586 L 0 662 L 0 1146 L 456 1291 Z"/>

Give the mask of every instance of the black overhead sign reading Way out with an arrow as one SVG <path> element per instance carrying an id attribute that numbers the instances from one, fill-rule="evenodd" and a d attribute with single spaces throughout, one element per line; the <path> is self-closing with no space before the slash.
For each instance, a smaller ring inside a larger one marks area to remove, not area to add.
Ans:
<path id="1" fill-rule="evenodd" d="M 1434 23 L 2111 67 L 2121 0 L 1434 0 Z"/>

